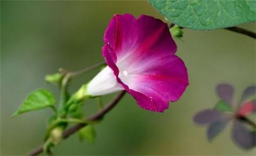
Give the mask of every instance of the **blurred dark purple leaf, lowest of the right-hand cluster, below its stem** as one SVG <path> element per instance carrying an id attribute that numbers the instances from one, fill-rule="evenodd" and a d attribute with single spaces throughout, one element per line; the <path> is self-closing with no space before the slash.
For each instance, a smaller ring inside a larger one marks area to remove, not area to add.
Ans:
<path id="1" fill-rule="evenodd" d="M 256 145 L 256 133 L 246 128 L 242 122 L 235 121 L 232 129 L 233 141 L 242 147 L 249 150 Z"/>

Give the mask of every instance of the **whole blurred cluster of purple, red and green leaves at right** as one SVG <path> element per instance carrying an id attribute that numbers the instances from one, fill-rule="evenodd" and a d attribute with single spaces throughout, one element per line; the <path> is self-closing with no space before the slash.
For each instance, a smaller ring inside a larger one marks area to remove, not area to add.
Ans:
<path id="1" fill-rule="evenodd" d="M 233 121 L 233 141 L 243 149 L 251 149 L 256 145 L 255 129 L 253 131 L 245 125 L 246 117 L 256 111 L 255 90 L 255 86 L 247 87 L 238 105 L 235 105 L 234 87 L 228 84 L 217 86 L 220 102 L 215 105 L 214 109 L 202 110 L 194 117 L 196 124 L 209 124 L 207 129 L 209 141 L 217 136 L 228 122 Z"/>

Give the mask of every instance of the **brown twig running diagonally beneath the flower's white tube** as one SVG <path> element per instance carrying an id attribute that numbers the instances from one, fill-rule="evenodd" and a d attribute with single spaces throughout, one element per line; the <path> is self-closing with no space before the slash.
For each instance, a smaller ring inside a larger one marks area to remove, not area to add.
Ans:
<path id="1" fill-rule="evenodd" d="M 89 117 L 87 120 L 88 121 L 96 121 L 100 118 L 102 118 L 103 116 L 105 116 L 105 114 L 107 112 L 109 112 L 111 109 L 113 109 L 116 104 L 121 100 L 121 98 L 124 96 L 126 92 L 122 91 L 121 93 L 119 93 L 114 99 L 113 101 L 111 101 L 105 108 L 103 108 L 102 110 L 100 110 L 99 112 L 95 113 L 93 116 Z M 62 134 L 62 138 L 68 138 L 70 135 L 76 133 L 80 128 L 86 126 L 87 124 L 77 124 L 67 130 L 65 130 L 65 132 L 63 132 Z M 43 152 L 43 145 L 39 146 L 37 149 L 31 151 L 28 155 L 38 155 L 40 153 Z"/>

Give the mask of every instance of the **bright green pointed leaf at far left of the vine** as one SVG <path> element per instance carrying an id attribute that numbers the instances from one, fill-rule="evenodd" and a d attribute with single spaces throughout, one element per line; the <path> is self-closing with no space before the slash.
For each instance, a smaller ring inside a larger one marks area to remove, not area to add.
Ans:
<path id="1" fill-rule="evenodd" d="M 53 106 L 55 98 L 53 94 L 46 89 L 38 89 L 28 95 L 28 97 L 22 102 L 20 108 L 12 114 L 12 116 L 18 116 L 19 114 L 44 109 L 48 106 Z"/>

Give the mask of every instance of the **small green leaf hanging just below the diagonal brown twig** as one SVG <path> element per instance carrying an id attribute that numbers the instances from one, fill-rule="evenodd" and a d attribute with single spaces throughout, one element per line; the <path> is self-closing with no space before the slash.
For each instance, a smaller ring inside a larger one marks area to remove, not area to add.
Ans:
<path id="1" fill-rule="evenodd" d="M 87 139 L 89 143 L 94 143 L 96 133 L 92 125 L 85 126 L 78 131 L 78 137 L 81 141 Z"/>

